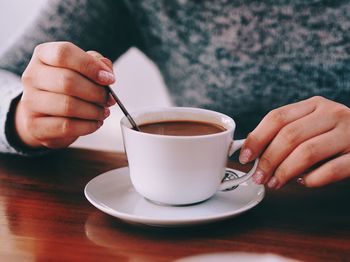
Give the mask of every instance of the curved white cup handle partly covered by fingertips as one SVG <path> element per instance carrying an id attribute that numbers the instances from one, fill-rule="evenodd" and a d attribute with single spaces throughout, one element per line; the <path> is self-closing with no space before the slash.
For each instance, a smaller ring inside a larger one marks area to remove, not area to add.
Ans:
<path id="1" fill-rule="evenodd" d="M 239 150 L 243 146 L 244 142 L 245 142 L 245 139 L 233 141 L 233 144 L 230 147 L 228 155 L 232 156 L 233 153 L 235 153 L 237 150 Z M 252 169 L 250 169 L 249 172 L 245 173 L 243 176 L 233 178 L 227 181 L 222 181 L 219 190 L 224 191 L 247 181 L 254 174 L 258 166 L 258 163 L 259 163 L 259 158 L 255 159 Z M 229 170 L 229 168 L 227 169 Z"/>

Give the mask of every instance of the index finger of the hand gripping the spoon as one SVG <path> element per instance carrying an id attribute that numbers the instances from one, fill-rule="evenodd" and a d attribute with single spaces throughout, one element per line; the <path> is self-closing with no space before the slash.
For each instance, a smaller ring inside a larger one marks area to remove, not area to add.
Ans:
<path id="1" fill-rule="evenodd" d="M 100 85 L 115 81 L 113 71 L 106 64 L 70 42 L 38 45 L 34 55 L 44 64 L 74 70 Z"/>

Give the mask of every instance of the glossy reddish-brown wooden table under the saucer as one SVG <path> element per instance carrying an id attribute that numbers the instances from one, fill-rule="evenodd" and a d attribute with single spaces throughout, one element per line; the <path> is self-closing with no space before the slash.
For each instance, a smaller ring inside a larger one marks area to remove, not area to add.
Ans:
<path id="1" fill-rule="evenodd" d="M 172 261 L 216 252 L 350 261 L 350 181 L 295 183 L 223 222 L 132 226 L 94 208 L 85 184 L 127 165 L 125 155 L 66 149 L 37 158 L 0 155 L 0 261 Z"/>

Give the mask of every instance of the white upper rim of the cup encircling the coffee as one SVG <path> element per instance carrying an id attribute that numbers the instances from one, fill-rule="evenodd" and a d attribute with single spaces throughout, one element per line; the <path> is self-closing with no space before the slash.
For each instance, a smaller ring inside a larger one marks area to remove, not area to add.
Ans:
<path id="1" fill-rule="evenodd" d="M 142 135 L 142 136 L 148 136 L 148 137 L 157 137 L 157 138 L 166 138 L 166 139 L 207 139 L 210 137 L 216 137 L 216 136 L 222 136 L 222 135 L 226 135 L 227 133 L 234 132 L 235 128 L 236 128 L 236 122 L 229 116 L 217 112 L 217 111 L 213 111 L 213 110 L 209 110 L 209 109 L 203 109 L 203 108 L 196 108 L 196 107 L 177 107 L 177 106 L 171 106 L 171 107 L 148 107 L 148 108 L 143 108 L 140 110 L 136 110 L 136 111 L 132 111 L 130 113 L 130 115 L 134 118 L 134 120 L 137 122 L 137 118 L 142 115 L 142 114 L 146 114 L 146 113 L 152 113 L 152 112 L 164 112 L 164 111 L 177 111 L 177 112 L 206 112 L 206 113 L 210 113 L 213 115 L 216 115 L 218 117 L 221 118 L 225 118 L 227 119 L 231 126 L 229 128 L 227 128 L 227 126 L 225 126 L 224 128 L 226 129 L 223 132 L 219 132 L 219 133 L 215 133 L 215 134 L 205 134 L 205 135 L 196 135 L 196 136 L 172 136 L 172 135 L 159 135 L 159 134 L 150 134 L 150 133 L 145 133 L 145 132 L 139 132 L 136 131 L 134 129 L 132 129 L 131 124 L 129 123 L 129 120 L 126 116 L 124 116 L 121 120 L 120 120 L 120 125 L 123 127 L 125 127 L 126 129 L 128 129 L 129 132 L 133 132 L 133 133 L 137 133 L 138 135 Z M 191 119 L 188 119 L 189 121 Z M 192 119 L 193 120 L 193 119 Z M 205 121 L 203 121 L 205 122 Z M 209 122 L 209 121 L 208 121 Z M 209 122 L 210 123 L 210 122 Z"/>

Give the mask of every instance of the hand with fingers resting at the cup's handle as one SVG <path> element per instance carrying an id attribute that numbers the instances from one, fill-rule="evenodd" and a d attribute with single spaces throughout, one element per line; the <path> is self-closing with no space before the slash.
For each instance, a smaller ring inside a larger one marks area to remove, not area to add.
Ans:
<path id="1" fill-rule="evenodd" d="M 350 177 L 350 109 L 312 97 L 271 111 L 249 134 L 240 161 L 258 156 L 253 180 L 270 188 L 294 178 L 318 187 Z"/>

